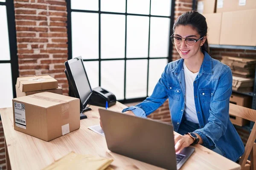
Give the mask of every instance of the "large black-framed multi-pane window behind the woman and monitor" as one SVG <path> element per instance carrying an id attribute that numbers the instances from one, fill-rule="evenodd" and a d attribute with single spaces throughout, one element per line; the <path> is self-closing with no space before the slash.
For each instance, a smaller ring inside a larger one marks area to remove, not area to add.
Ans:
<path id="1" fill-rule="evenodd" d="M 168 62 L 173 0 L 67 0 L 69 59 L 119 102 L 151 95 Z"/>

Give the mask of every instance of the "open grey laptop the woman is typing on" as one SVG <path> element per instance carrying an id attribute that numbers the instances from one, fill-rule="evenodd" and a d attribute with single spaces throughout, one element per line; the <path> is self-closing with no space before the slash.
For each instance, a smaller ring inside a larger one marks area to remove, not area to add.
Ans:
<path id="1" fill-rule="evenodd" d="M 108 149 L 148 164 L 178 170 L 195 148 L 186 147 L 175 154 L 170 123 L 99 109 Z"/>

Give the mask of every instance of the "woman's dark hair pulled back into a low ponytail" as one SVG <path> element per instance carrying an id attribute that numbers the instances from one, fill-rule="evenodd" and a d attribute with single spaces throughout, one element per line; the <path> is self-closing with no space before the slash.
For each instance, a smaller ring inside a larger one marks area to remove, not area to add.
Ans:
<path id="1" fill-rule="evenodd" d="M 202 14 L 198 13 L 197 11 L 188 11 L 184 14 L 181 14 L 173 25 L 173 33 L 175 31 L 175 28 L 180 25 L 191 26 L 196 31 L 198 31 L 200 38 L 203 36 L 207 36 L 208 27 L 207 27 L 206 19 Z M 201 50 L 209 53 L 209 45 L 208 45 L 207 39 L 204 42 L 204 45 L 202 46 Z"/>

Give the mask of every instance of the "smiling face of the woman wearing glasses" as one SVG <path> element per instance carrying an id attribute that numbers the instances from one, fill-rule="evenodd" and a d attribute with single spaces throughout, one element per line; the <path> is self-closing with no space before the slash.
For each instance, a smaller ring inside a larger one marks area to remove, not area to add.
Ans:
<path id="1" fill-rule="evenodd" d="M 177 26 L 175 28 L 174 37 L 191 38 L 198 40 L 200 35 L 191 26 Z M 200 47 L 204 44 L 206 37 L 195 42 L 195 45 L 186 45 L 185 40 L 182 40 L 179 45 L 175 45 L 180 57 L 183 59 L 189 59 L 197 54 L 200 54 Z"/>

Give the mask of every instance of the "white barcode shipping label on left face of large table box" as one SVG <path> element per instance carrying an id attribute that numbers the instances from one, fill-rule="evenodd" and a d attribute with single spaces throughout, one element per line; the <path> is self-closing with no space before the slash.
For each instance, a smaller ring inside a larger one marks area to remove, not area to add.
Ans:
<path id="1" fill-rule="evenodd" d="M 15 125 L 26 129 L 26 113 L 25 105 L 23 103 L 14 102 L 15 111 Z"/>

